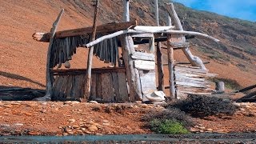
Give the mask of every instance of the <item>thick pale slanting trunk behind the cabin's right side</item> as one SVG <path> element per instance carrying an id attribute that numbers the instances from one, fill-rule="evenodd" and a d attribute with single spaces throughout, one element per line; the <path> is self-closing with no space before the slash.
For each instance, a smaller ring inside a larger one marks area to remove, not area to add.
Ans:
<path id="1" fill-rule="evenodd" d="M 166 4 L 166 10 L 170 14 L 170 17 L 172 18 L 174 25 L 176 26 L 176 30 L 183 30 L 182 23 L 180 22 L 178 15 L 176 14 L 176 11 L 174 10 L 174 4 L 173 3 L 167 3 Z M 186 41 L 186 38 L 182 35 L 182 42 Z M 198 58 L 197 56 L 194 56 L 188 47 L 182 49 L 183 53 L 186 55 L 186 58 L 190 61 L 192 66 L 198 66 L 202 69 L 206 70 L 206 66 L 204 66 L 202 60 Z"/>

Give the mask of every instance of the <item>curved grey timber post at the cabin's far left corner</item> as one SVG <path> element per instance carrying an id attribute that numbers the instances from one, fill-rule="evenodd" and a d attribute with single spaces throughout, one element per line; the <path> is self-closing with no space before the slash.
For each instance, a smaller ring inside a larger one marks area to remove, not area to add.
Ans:
<path id="1" fill-rule="evenodd" d="M 38 100 L 38 101 L 50 101 L 51 100 L 51 96 L 53 94 L 53 76 L 50 74 L 50 54 L 51 54 L 52 45 L 54 42 L 54 35 L 56 33 L 56 30 L 58 28 L 58 23 L 61 20 L 63 13 L 64 13 L 64 9 L 62 9 L 61 12 L 58 14 L 58 18 L 53 23 L 53 27 L 50 30 L 51 37 L 50 37 L 50 43 L 48 46 L 47 62 L 46 62 L 46 95 L 41 98 L 35 98 L 34 100 Z"/>

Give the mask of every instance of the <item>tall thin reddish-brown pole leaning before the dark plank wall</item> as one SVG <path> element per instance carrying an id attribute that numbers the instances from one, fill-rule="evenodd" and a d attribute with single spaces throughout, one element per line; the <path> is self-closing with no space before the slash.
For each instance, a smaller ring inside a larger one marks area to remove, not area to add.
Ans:
<path id="1" fill-rule="evenodd" d="M 96 21 L 97 21 L 97 16 L 98 16 L 98 5 L 99 5 L 99 0 L 96 0 L 96 6 L 94 10 L 94 24 L 93 24 L 93 33 L 90 38 L 90 42 L 93 42 L 95 40 L 96 36 Z M 86 85 L 85 85 L 85 95 L 83 101 L 88 100 L 90 97 L 90 80 L 91 80 L 91 66 L 92 66 L 92 60 L 93 60 L 93 55 L 94 55 L 94 46 L 90 47 L 89 53 L 88 53 L 88 60 L 87 60 L 87 70 L 86 70 Z"/>

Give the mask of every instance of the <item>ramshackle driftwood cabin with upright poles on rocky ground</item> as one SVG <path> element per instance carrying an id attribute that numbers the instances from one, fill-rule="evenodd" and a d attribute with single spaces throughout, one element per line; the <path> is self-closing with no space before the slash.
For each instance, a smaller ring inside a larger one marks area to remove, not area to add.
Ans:
<path id="1" fill-rule="evenodd" d="M 38 42 L 49 42 L 46 96 L 38 100 L 158 102 L 164 101 L 165 97 L 175 99 L 186 98 L 187 94 L 211 94 L 206 78 L 215 74 L 209 74 L 202 60 L 190 52 L 186 38 L 192 35 L 214 42 L 218 42 L 218 39 L 183 30 L 172 3 L 165 4 L 168 26 L 159 26 L 157 0 L 155 4 L 156 26 L 138 26 L 138 22 L 130 21 L 129 0 L 123 1 L 124 22 L 96 26 L 97 1 L 94 26 L 57 31 L 64 12 L 62 10 L 50 33 L 33 34 Z M 168 84 L 163 82 L 161 42 L 167 43 Z M 136 45 L 145 43 L 148 43 L 149 53 L 135 50 Z M 122 47 L 122 52 L 118 51 L 118 47 Z M 87 69 L 70 68 L 69 61 L 78 48 L 89 49 Z M 176 64 L 174 50 L 182 50 L 190 66 Z M 122 58 L 119 53 L 122 53 Z M 93 56 L 112 63 L 113 67 L 91 69 Z M 67 69 L 59 69 L 63 64 Z M 162 92 L 164 89 L 170 89 L 170 95 L 166 96 Z"/>

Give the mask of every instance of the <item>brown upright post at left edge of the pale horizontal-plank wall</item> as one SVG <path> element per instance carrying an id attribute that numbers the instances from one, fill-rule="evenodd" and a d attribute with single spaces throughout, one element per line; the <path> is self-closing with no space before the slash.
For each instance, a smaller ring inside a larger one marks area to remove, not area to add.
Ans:
<path id="1" fill-rule="evenodd" d="M 168 53 L 168 68 L 169 68 L 169 84 L 170 84 L 170 97 L 176 98 L 175 85 L 174 85 L 174 49 L 170 46 L 171 36 L 167 36 L 167 53 Z"/>

